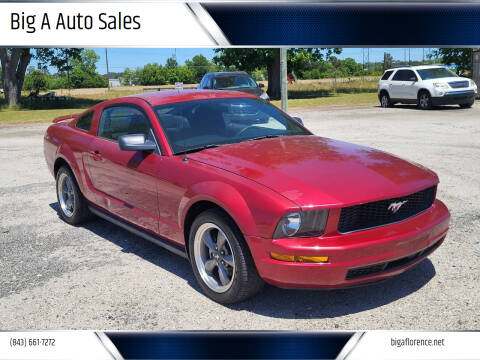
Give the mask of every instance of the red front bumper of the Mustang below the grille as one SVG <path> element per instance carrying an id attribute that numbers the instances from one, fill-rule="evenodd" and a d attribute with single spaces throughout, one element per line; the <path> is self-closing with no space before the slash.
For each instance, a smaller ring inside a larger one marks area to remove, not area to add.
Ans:
<path id="1" fill-rule="evenodd" d="M 260 276 L 287 288 L 342 288 L 384 280 L 416 265 L 443 242 L 450 214 L 439 200 L 405 221 L 348 234 L 317 238 L 247 237 Z M 270 252 L 328 256 L 327 263 L 274 260 Z"/>

